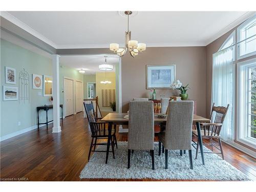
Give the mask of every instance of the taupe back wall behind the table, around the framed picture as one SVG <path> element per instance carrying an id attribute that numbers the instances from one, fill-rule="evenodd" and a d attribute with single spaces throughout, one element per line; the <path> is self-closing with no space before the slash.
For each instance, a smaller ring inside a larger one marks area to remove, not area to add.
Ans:
<path id="1" fill-rule="evenodd" d="M 206 106 L 206 48 L 205 47 L 157 47 L 131 57 L 122 57 L 122 111 L 129 108 L 135 97 L 148 97 L 146 90 L 146 65 L 176 65 L 176 79 L 189 83 L 188 97 L 197 100 L 197 114 L 205 116 Z M 160 95 L 178 95 L 175 90 L 158 89 Z"/>

